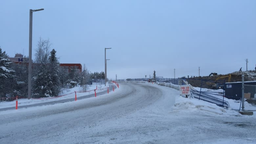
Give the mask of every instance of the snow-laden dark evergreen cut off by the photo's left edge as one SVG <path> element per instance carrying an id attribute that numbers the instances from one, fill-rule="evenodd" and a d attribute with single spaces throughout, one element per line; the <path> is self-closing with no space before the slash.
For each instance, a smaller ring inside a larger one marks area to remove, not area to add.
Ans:
<path id="1" fill-rule="evenodd" d="M 13 70 L 10 68 L 11 60 L 9 56 L 2 52 L 0 47 L 0 96 L 6 96 L 10 91 L 11 79 L 14 77 Z"/>

